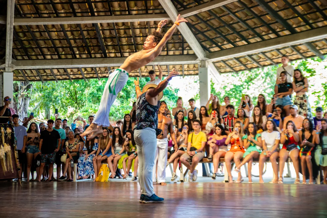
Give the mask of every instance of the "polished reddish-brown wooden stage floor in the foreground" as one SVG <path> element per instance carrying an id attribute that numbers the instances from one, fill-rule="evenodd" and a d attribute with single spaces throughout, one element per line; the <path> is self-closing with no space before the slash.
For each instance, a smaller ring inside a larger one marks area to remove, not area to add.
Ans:
<path id="1" fill-rule="evenodd" d="M 327 217 L 327 185 L 155 185 L 163 203 L 139 203 L 137 182 L 0 183 L 0 217 Z"/>

